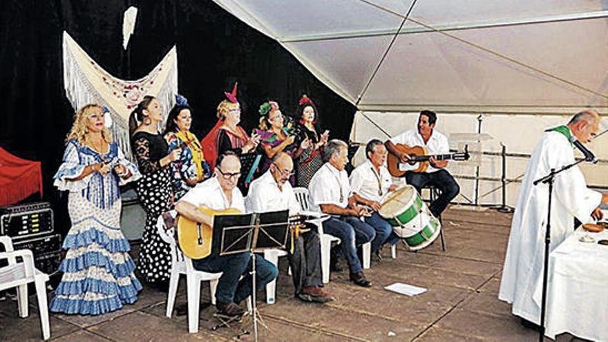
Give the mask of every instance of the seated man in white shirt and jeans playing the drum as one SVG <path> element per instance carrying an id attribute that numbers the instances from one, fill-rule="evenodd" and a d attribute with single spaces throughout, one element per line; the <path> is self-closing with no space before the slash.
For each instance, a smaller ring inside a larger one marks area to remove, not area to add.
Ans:
<path id="1" fill-rule="evenodd" d="M 385 243 L 395 245 L 399 242 L 399 236 L 392 231 L 392 226 L 380 216 L 380 202 L 390 191 L 397 189 L 397 184 L 392 184 L 390 173 L 386 169 L 386 148 L 377 139 L 372 139 L 365 146 L 367 160 L 356 167 L 350 174 L 350 189 L 357 201 L 370 207 L 372 215 L 365 218 L 365 222 L 374 227 L 376 238 L 372 240 L 372 253 L 379 259 L 380 249 Z"/>

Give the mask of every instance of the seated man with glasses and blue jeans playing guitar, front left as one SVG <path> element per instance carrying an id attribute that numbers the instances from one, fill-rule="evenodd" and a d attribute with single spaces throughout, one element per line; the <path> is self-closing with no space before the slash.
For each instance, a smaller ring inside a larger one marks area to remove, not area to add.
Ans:
<path id="1" fill-rule="evenodd" d="M 236 187 L 240 177 L 240 161 L 233 151 L 225 151 L 218 157 L 215 177 L 199 183 L 188 191 L 177 204 L 175 210 L 180 215 L 213 227 L 213 216 L 198 210 L 198 207 L 222 211 L 228 208 L 245 213 L 243 195 Z M 256 289 L 263 289 L 278 276 L 272 263 L 260 256 L 256 258 Z M 204 272 L 222 272 L 216 290 L 216 307 L 220 314 L 240 316 L 244 311 L 239 303 L 251 295 L 251 253 L 220 256 L 211 254 L 204 259 L 192 260 L 194 268 Z M 243 278 L 240 278 L 243 276 Z M 239 281 L 240 279 L 240 281 Z"/>

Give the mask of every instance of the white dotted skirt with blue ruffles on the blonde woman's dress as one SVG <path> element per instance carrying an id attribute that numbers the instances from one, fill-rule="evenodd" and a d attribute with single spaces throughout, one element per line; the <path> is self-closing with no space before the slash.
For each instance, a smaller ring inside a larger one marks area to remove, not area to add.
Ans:
<path id="1" fill-rule="evenodd" d="M 120 207 L 119 200 L 99 209 L 70 193 L 73 226 L 64 240 L 68 253 L 59 265 L 64 276 L 50 303 L 51 311 L 98 315 L 137 301 L 142 284 L 133 274 L 131 246 L 120 231 Z"/>

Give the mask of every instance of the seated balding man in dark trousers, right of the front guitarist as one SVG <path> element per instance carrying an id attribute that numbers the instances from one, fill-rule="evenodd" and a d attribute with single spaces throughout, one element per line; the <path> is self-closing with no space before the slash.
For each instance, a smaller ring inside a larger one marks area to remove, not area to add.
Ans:
<path id="1" fill-rule="evenodd" d="M 248 211 L 263 213 L 265 211 L 289 210 L 289 215 L 300 211 L 296 194 L 289 184 L 289 177 L 294 174 L 294 161 L 285 152 L 276 153 L 272 164 L 260 178 L 249 185 L 249 194 L 245 201 Z M 312 226 L 312 225 L 311 225 Z M 289 252 L 289 266 L 292 267 L 292 277 L 296 288 L 296 297 L 302 301 L 326 303 L 332 301 L 332 296 L 321 289 L 323 278 L 321 274 L 321 239 L 319 234 L 311 229 L 294 240 L 294 251 Z M 295 234 L 290 234 L 289 245 Z"/>

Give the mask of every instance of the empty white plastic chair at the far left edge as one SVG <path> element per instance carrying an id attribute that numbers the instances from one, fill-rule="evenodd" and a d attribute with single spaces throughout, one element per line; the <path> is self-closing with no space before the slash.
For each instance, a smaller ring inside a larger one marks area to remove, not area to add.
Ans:
<path id="1" fill-rule="evenodd" d="M 48 274 L 40 272 L 34 266 L 34 255 L 29 249 L 19 249 L 15 251 L 12 247 L 12 240 L 8 236 L 0 236 L 0 243 L 4 245 L 3 252 L 0 252 L 0 260 L 8 259 L 8 266 L 0 267 L 0 291 L 17 287 L 17 306 L 19 307 L 19 317 L 28 316 L 28 283 L 36 286 L 36 296 L 38 298 L 38 309 L 40 323 L 42 325 L 42 338 L 50 338 L 50 325 L 48 323 L 48 304 L 46 301 L 46 282 Z M 17 262 L 16 257 L 23 259 Z"/>

